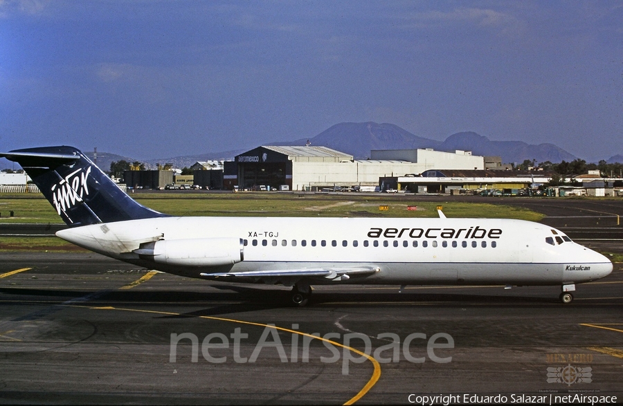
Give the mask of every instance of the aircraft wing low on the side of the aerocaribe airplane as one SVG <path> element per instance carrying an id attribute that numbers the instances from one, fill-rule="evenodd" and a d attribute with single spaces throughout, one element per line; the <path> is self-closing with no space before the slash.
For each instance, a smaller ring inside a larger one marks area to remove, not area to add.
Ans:
<path id="1" fill-rule="evenodd" d="M 247 272 L 228 273 L 202 273 L 202 277 L 210 279 L 228 278 L 231 282 L 236 278 L 276 279 L 276 278 L 301 278 L 301 277 L 324 277 L 331 280 L 347 280 L 351 275 L 370 275 L 379 272 L 374 266 L 352 266 L 343 268 L 305 268 L 305 269 L 280 269 L 280 270 L 251 270 Z"/>

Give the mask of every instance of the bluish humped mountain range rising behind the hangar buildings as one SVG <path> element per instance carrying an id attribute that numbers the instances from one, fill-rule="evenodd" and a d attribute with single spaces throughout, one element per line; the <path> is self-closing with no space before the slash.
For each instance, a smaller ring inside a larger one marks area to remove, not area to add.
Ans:
<path id="1" fill-rule="evenodd" d="M 274 145 L 305 145 L 307 139 L 291 142 L 276 142 Z M 491 141 L 474 132 L 455 133 L 443 142 L 415 136 L 415 134 L 395 124 L 377 124 L 376 122 L 343 122 L 309 138 L 311 145 L 323 145 L 338 151 L 352 154 L 355 159 L 370 156 L 371 149 L 417 149 L 433 148 L 437 151 L 455 151 L 462 149 L 480 156 L 501 156 L 503 163 L 522 163 L 534 159 L 537 163 L 549 160 L 559 163 L 561 160 L 576 159 L 553 144 L 530 145 L 523 141 Z"/>

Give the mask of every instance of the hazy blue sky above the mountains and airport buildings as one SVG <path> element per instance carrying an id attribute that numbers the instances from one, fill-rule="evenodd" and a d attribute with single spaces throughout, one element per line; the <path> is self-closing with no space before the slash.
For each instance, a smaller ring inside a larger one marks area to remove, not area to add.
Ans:
<path id="1" fill-rule="evenodd" d="M 0 0 L 2 151 L 165 158 L 364 121 L 623 154 L 623 3 Z"/>

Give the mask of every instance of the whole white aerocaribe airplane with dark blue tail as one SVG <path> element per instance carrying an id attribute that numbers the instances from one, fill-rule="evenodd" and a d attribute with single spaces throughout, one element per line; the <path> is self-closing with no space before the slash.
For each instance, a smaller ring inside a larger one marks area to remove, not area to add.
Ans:
<path id="1" fill-rule="evenodd" d="M 612 272 L 608 258 L 548 225 L 513 219 L 179 217 L 131 199 L 78 149 L 0 153 L 69 225 L 57 236 L 107 257 L 199 279 L 311 284 L 559 285 Z"/>

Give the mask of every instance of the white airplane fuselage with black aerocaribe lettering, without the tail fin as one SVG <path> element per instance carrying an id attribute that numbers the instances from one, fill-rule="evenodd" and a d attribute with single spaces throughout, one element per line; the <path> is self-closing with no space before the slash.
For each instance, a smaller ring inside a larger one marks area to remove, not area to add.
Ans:
<path id="1" fill-rule="evenodd" d="M 612 270 L 606 257 L 559 230 L 512 219 L 167 217 L 86 225 L 57 235 L 186 277 L 368 266 L 376 272 L 314 283 L 559 285 L 589 282 Z M 177 242 L 155 257 L 140 255 L 141 246 L 158 241 Z M 241 250 L 242 258 L 225 264 L 193 258 L 193 252 L 210 250 L 215 256 Z"/>

